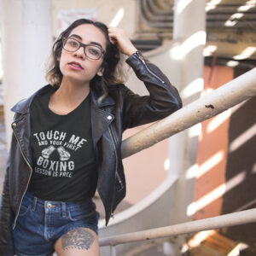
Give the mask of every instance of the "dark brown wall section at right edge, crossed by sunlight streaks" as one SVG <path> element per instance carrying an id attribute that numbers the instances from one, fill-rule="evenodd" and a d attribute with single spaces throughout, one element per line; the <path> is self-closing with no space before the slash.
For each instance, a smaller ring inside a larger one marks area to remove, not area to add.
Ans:
<path id="1" fill-rule="evenodd" d="M 243 173 L 244 179 L 223 196 L 222 214 L 256 207 L 256 97 L 242 102 L 230 117 L 226 181 Z M 228 228 L 233 239 L 255 243 L 256 224 Z"/>

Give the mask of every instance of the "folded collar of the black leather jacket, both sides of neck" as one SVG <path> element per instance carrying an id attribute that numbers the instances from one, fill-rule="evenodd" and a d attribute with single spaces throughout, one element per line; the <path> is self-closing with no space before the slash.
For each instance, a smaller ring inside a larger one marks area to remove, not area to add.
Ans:
<path id="1" fill-rule="evenodd" d="M 15 113 L 22 113 L 22 114 L 28 113 L 33 99 L 36 96 L 40 96 L 51 89 L 52 89 L 52 85 L 50 84 L 45 85 L 43 88 L 37 90 L 34 94 L 32 94 L 32 96 L 26 99 L 23 99 L 20 102 L 17 102 L 15 106 L 11 108 L 11 110 Z M 109 96 L 109 95 L 106 96 L 104 99 L 102 99 L 101 102 L 98 102 L 98 98 L 101 96 L 101 94 L 100 94 L 100 91 L 94 90 L 93 87 L 90 87 L 90 93 L 91 93 L 91 102 L 96 108 L 102 108 L 102 107 L 111 106 L 115 104 L 112 96 Z"/>

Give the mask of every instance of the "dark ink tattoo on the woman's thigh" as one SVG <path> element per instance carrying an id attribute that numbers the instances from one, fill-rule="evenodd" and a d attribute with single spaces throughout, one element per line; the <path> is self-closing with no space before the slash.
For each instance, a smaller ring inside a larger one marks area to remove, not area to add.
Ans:
<path id="1" fill-rule="evenodd" d="M 67 234 L 61 237 L 61 247 L 63 250 L 68 249 L 86 249 L 89 250 L 93 241 L 94 236 L 90 230 L 79 228 L 70 230 Z"/>

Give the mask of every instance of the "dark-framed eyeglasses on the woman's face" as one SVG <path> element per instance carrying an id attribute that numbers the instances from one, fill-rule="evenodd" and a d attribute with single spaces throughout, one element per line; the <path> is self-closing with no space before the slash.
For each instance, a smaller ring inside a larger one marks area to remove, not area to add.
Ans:
<path id="1" fill-rule="evenodd" d="M 75 52 L 80 47 L 84 48 L 84 55 L 86 55 L 91 60 L 99 60 L 105 53 L 104 49 L 95 44 L 83 44 L 74 38 L 63 38 L 62 39 L 63 49 L 69 52 Z"/>

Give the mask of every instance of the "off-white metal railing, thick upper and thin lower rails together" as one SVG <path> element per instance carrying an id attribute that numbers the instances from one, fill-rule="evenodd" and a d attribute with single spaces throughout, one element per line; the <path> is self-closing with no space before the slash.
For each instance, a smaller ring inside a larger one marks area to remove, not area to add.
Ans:
<path id="1" fill-rule="evenodd" d="M 222 113 L 236 104 L 256 96 L 256 68 L 213 90 L 176 113 L 150 125 L 143 131 L 127 138 L 122 143 L 123 158 L 149 148 L 161 140 L 183 131 L 203 120 Z M 131 241 L 177 236 L 200 230 L 212 230 L 237 224 L 256 222 L 256 209 L 234 212 L 213 218 L 205 218 L 183 224 L 175 224 L 154 230 L 144 230 L 119 236 L 100 238 L 100 246 L 110 246 L 111 255 L 116 255 L 115 246 Z"/>

